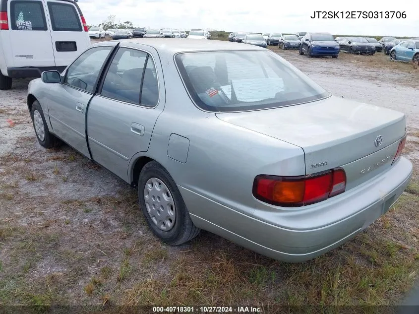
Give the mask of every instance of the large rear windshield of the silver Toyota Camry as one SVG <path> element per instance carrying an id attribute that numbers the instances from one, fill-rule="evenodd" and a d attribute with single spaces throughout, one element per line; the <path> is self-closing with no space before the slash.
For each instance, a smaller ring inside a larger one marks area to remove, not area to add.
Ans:
<path id="1" fill-rule="evenodd" d="M 268 109 L 330 95 L 270 51 L 180 53 L 175 61 L 194 103 L 211 112 Z"/>

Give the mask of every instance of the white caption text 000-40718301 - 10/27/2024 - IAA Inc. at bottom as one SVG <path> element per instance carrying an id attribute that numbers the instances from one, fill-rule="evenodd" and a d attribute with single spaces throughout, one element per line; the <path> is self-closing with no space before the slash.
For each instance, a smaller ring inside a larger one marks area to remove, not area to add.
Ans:
<path id="1" fill-rule="evenodd" d="M 153 307 L 154 313 L 262 313 L 257 307 Z"/>

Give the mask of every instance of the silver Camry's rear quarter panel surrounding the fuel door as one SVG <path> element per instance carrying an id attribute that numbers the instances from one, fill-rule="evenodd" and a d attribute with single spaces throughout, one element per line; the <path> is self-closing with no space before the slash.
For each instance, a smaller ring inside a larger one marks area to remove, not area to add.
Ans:
<path id="1" fill-rule="evenodd" d="M 146 155 L 161 163 L 176 184 L 247 215 L 265 204 L 252 195 L 259 174 L 297 176 L 305 173 L 300 147 L 215 117 L 191 102 L 173 56 L 160 56 L 166 87 L 166 105 L 159 116 Z M 189 139 L 185 163 L 168 157 L 172 133 Z M 187 204 L 192 214 L 205 208 Z M 266 206 L 269 210 L 269 206 Z M 206 217 L 208 218 L 208 217 Z"/>

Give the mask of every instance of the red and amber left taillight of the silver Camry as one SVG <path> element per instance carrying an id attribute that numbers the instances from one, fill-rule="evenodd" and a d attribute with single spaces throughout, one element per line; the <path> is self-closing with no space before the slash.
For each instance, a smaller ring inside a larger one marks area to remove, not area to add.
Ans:
<path id="1" fill-rule="evenodd" d="M 309 176 L 259 175 L 253 182 L 253 195 L 273 205 L 296 207 L 336 196 L 343 193 L 345 188 L 345 170 L 336 168 Z"/>

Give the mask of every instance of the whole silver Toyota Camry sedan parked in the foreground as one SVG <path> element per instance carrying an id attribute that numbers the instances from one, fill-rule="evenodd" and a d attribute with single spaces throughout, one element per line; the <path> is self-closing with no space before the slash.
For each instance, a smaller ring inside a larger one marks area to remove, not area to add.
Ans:
<path id="1" fill-rule="evenodd" d="M 31 81 L 27 103 L 42 146 L 136 188 L 170 245 L 204 229 L 304 261 L 384 215 L 412 175 L 403 113 L 335 97 L 257 46 L 102 42 Z"/>

